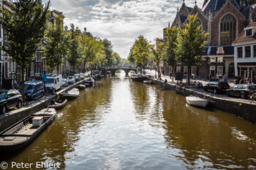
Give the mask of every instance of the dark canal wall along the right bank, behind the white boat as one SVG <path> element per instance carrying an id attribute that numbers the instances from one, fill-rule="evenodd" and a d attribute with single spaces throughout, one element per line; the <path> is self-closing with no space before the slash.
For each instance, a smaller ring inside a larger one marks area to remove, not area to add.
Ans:
<path id="1" fill-rule="evenodd" d="M 167 83 L 160 80 L 152 80 L 156 85 L 160 85 L 162 88 L 165 87 L 166 90 L 175 90 L 175 85 Z M 200 98 L 205 98 L 209 101 L 210 107 L 216 107 L 224 112 L 228 112 L 237 117 L 241 117 L 245 120 L 252 121 L 256 123 L 256 104 L 250 103 L 250 101 L 232 101 L 227 98 L 222 98 L 221 96 L 211 96 L 211 93 L 203 93 L 195 91 L 193 89 L 186 88 L 182 93 L 184 96 L 198 96 Z"/>

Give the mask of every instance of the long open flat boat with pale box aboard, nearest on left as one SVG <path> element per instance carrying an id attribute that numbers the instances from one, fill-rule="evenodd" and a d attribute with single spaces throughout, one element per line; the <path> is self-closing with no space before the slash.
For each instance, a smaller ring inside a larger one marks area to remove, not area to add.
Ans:
<path id="1" fill-rule="evenodd" d="M 32 142 L 56 117 L 56 109 L 46 108 L 26 117 L 0 134 L 0 152 L 12 152 Z"/>

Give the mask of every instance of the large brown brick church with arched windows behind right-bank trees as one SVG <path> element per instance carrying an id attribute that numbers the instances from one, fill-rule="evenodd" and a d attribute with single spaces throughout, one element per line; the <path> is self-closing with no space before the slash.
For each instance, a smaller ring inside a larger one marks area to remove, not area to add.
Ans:
<path id="1" fill-rule="evenodd" d="M 198 22 L 202 25 L 203 31 L 208 32 L 208 44 L 203 55 L 206 60 L 201 66 L 192 67 L 192 74 L 200 77 L 207 77 L 208 74 L 220 76 L 226 74 L 228 77 L 235 75 L 234 67 L 234 47 L 233 41 L 256 19 L 255 0 L 204 0 L 200 9 L 195 3 L 195 7 L 187 7 L 185 1 L 180 9 L 177 9 L 176 18 L 171 26 L 183 27 L 188 22 L 188 15 L 197 14 Z M 164 35 L 165 39 L 165 35 Z M 169 72 L 162 64 L 162 69 Z M 187 74 L 187 67 L 178 63 L 176 72 Z"/>

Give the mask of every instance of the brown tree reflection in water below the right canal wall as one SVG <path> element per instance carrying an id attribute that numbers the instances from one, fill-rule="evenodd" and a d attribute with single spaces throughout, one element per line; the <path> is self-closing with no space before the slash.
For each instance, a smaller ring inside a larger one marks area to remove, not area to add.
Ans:
<path id="1" fill-rule="evenodd" d="M 164 95 L 163 117 L 170 155 L 184 161 L 188 169 L 248 169 L 256 163 L 256 134 L 250 129 L 255 127 L 244 120 L 218 110 L 186 107 L 184 96 L 172 92 Z M 237 139 L 232 127 L 248 132 L 249 140 Z"/>

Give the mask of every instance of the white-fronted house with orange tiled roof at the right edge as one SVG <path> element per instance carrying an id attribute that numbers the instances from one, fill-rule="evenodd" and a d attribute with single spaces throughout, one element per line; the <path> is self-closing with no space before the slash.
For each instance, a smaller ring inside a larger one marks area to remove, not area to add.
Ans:
<path id="1" fill-rule="evenodd" d="M 256 23 L 250 23 L 233 42 L 235 75 L 256 83 Z"/>

